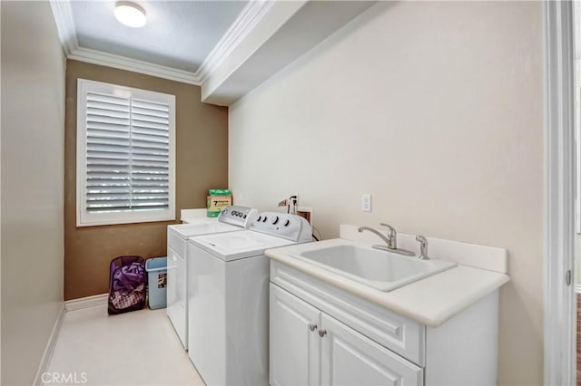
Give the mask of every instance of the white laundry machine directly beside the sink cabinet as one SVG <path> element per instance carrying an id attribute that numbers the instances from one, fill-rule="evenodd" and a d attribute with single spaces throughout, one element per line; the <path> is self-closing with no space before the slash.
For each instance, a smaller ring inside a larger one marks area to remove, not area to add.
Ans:
<path id="1" fill-rule="evenodd" d="M 268 384 L 266 249 L 311 240 L 302 217 L 261 213 L 248 230 L 188 243 L 188 346 L 207 385 Z"/>

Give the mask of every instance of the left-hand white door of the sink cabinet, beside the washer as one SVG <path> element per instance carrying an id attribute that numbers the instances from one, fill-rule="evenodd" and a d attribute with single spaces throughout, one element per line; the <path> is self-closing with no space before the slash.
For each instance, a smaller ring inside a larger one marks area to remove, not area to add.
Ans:
<path id="1" fill-rule="evenodd" d="M 320 311 L 271 284 L 271 385 L 320 384 Z"/>

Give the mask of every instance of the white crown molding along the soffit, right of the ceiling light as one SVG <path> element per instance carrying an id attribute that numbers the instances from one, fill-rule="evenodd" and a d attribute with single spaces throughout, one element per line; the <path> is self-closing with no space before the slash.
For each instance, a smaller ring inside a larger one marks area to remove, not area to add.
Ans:
<path id="1" fill-rule="evenodd" d="M 242 9 L 236 20 L 216 43 L 212 51 L 196 71 L 200 82 L 205 80 L 222 64 L 222 62 L 234 51 L 234 49 L 250 34 L 252 29 L 261 22 L 264 14 L 267 14 L 274 5 L 270 0 L 251 0 Z"/>

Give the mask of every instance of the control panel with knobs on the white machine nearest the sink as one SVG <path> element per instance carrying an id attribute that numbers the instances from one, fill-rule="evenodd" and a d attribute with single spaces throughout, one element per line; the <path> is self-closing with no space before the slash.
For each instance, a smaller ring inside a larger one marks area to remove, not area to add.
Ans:
<path id="1" fill-rule="evenodd" d="M 303 217 L 278 212 L 261 212 L 251 224 L 250 230 L 291 241 L 312 240 L 312 228 Z"/>

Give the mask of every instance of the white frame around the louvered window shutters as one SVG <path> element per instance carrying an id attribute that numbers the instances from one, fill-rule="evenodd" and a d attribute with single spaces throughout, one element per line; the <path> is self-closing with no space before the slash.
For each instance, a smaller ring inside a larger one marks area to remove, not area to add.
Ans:
<path id="1" fill-rule="evenodd" d="M 170 105 L 169 114 L 169 208 L 149 212 L 88 213 L 86 211 L 86 103 L 84 95 L 93 92 L 111 92 L 119 96 L 129 95 L 149 101 L 161 101 Z M 175 96 L 162 92 L 123 87 L 105 82 L 85 79 L 77 80 L 77 124 L 76 124 L 76 226 L 93 227 L 114 224 L 132 224 L 175 220 Z"/>

